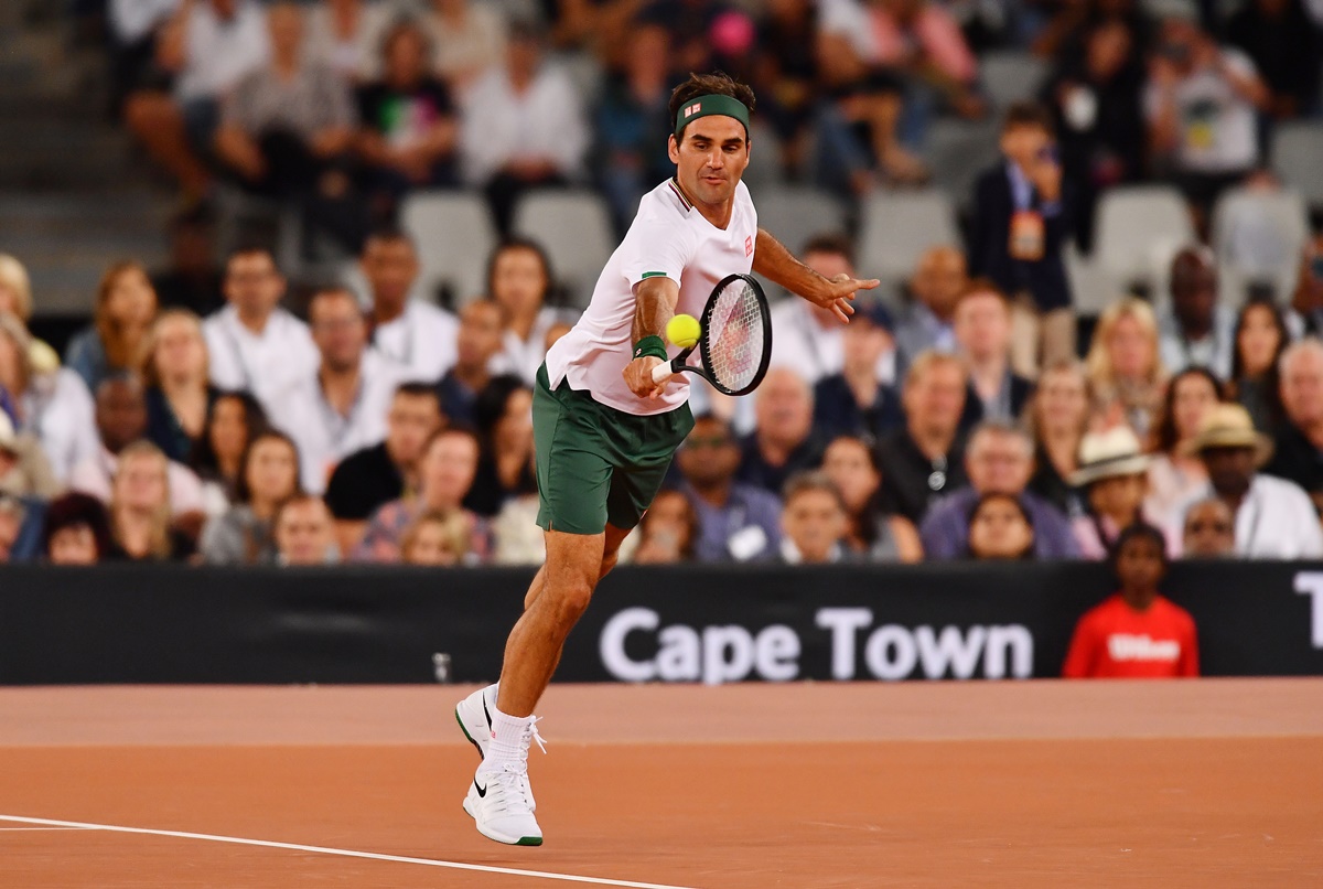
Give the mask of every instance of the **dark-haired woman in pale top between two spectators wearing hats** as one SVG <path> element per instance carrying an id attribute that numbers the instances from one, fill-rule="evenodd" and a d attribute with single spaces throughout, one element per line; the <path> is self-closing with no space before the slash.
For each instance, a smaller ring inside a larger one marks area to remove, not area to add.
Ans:
<path id="1" fill-rule="evenodd" d="M 1179 524 L 1176 512 L 1196 491 L 1208 486 L 1208 470 L 1197 455 L 1189 455 L 1189 442 L 1199 435 L 1204 417 L 1224 401 L 1222 385 L 1205 368 L 1185 368 L 1167 386 L 1167 397 L 1152 433 L 1154 459 L 1148 466 L 1150 515 Z"/>

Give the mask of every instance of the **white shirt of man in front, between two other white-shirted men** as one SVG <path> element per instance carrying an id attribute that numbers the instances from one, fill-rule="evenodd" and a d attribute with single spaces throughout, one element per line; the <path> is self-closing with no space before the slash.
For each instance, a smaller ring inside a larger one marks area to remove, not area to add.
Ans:
<path id="1" fill-rule="evenodd" d="M 323 493 L 340 460 L 386 438 L 386 414 L 400 381 L 400 369 L 368 349 L 363 355 L 359 396 L 348 415 L 327 403 L 315 368 L 277 396 L 271 423 L 299 448 L 304 491 Z"/>

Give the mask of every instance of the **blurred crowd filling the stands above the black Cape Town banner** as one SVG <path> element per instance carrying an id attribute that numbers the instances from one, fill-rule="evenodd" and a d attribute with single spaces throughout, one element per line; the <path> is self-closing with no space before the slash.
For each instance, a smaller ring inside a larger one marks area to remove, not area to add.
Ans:
<path id="1" fill-rule="evenodd" d="M 533 377 L 712 69 L 762 226 L 884 283 L 769 284 L 627 560 L 1323 557 L 1316 0 L 3 15 L 0 561 L 538 562 Z"/>

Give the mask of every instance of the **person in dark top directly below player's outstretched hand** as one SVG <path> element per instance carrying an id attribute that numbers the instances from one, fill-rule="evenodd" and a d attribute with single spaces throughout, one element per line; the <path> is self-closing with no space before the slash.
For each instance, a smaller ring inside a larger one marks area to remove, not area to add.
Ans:
<path id="1" fill-rule="evenodd" d="M 841 336 L 840 373 L 814 386 L 814 427 L 826 438 L 861 435 L 877 441 L 905 422 L 900 396 L 877 378 L 890 337 L 890 315 L 877 303 L 855 307 Z"/>

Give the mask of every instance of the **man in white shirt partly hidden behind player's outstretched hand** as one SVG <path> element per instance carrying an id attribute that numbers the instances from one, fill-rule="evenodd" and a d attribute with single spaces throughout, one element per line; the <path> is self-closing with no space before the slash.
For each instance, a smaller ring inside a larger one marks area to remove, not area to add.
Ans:
<path id="1" fill-rule="evenodd" d="M 836 275 L 855 276 L 855 255 L 849 239 L 839 234 L 819 234 L 804 245 L 804 265 L 832 279 Z M 864 304 L 860 300 L 861 308 Z M 896 378 L 896 352 L 890 336 L 890 319 L 875 314 L 882 321 L 885 343 L 878 353 L 875 372 L 878 380 Z M 818 308 L 802 299 L 785 299 L 771 310 L 771 366 L 790 366 L 810 385 L 840 373 L 845 366 L 845 331 L 830 308 Z"/>

